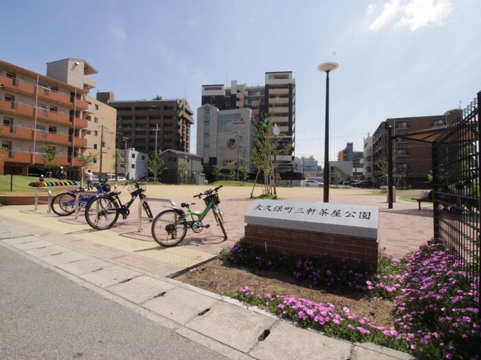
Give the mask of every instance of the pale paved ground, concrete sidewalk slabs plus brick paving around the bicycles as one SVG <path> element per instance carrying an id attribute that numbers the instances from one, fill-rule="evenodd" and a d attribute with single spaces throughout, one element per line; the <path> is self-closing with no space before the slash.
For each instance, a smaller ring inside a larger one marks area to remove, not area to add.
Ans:
<path id="1" fill-rule="evenodd" d="M 319 195 L 316 190 L 295 193 L 287 189 L 280 196 L 313 201 Z M 177 204 L 190 201 L 175 191 L 171 194 Z M 168 278 L 208 261 L 243 236 L 243 215 L 251 202 L 243 196 L 221 199 L 227 241 L 219 228 L 211 226 L 200 234 L 190 232 L 175 248 L 161 248 L 151 238 L 150 224 L 143 226 L 143 232 L 137 231 L 135 208 L 111 230 L 96 231 L 83 216 L 58 217 L 42 205 L 38 211 L 33 206 L 0 207 L 0 244 L 127 307 L 141 309 L 230 359 L 410 359 L 388 348 L 324 337 Z M 388 209 L 385 195 L 333 194 L 331 202 L 379 205 L 380 245 L 388 254 L 401 256 L 432 237 L 432 208 L 418 211 L 416 203 L 396 202 L 394 209 Z M 162 210 L 161 203 L 150 204 L 155 214 Z M 215 224 L 213 218 L 206 222 Z"/>

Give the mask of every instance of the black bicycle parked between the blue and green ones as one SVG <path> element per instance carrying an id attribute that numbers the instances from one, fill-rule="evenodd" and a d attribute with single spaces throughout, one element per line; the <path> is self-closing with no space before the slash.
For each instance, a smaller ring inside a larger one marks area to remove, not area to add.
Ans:
<path id="1" fill-rule="evenodd" d="M 124 184 L 124 187 L 128 185 L 128 192 L 131 193 L 131 200 L 128 200 L 126 204 L 122 204 L 119 198 L 121 191 L 113 191 L 108 195 L 100 195 L 91 199 L 87 206 L 85 206 L 85 219 L 87 223 L 94 229 L 106 230 L 111 228 L 117 222 L 120 215 L 122 219 L 126 219 L 131 213 L 129 208 L 140 197 L 140 200 L 144 200 L 146 195 L 146 176 L 140 179 L 129 180 Z M 148 202 L 145 200 L 142 204 L 144 211 L 149 219 L 153 219 L 152 211 Z"/>

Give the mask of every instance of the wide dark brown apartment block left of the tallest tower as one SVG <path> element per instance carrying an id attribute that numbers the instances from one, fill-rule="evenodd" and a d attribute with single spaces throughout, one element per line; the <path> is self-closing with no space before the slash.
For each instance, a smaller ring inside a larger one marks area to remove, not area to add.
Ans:
<path id="1" fill-rule="evenodd" d="M 189 152 L 194 113 L 186 99 L 107 101 L 107 104 L 117 110 L 118 148 L 135 148 L 148 155 L 166 149 Z"/>

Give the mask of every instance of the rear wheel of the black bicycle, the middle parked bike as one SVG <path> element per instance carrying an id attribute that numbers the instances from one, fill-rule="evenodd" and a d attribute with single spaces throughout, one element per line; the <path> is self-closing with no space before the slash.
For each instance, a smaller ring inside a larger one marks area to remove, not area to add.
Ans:
<path id="1" fill-rule="evenodd" d="M 93 197 L 85 206 L 85 219 L 97 230 L 111 228 L 117 222 L 119 213 L 117 202 L 108 195 Z"/>

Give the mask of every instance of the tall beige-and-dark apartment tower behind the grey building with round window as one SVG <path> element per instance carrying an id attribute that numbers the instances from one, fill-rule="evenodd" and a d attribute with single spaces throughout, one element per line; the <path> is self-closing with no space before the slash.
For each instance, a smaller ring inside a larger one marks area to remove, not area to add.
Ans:
<path id="1" fill-rule="evenodd" d="M 219 110 L 251 109 L 252 121 L 269 117 L 269 123 L 280 130 L 278 137 L 280 149 L 290 146 L 288 154 L 276 154 L 277 171 L 281 174 L 291 170 L 295 148 L 295 79 L 291 71 L 277 71 L 265 73 L 263 86 L 247 86 L 236 80 L 230 87 L 223 84 L 202 86 L 202 105 L 210 104 Z M 200 138 L 199 138 L 200 132 Z M 203 128 L 197 129 L 197 139 L 203 138 Z M 235 134 L 231 134 L 235 138 Z M 203 156 L 203 149 L 197 147 L 199 156 Z M 199 152 L 200 151 L 200 152 Z M 210 160 L 209 164 L 213 165 Z"/>

